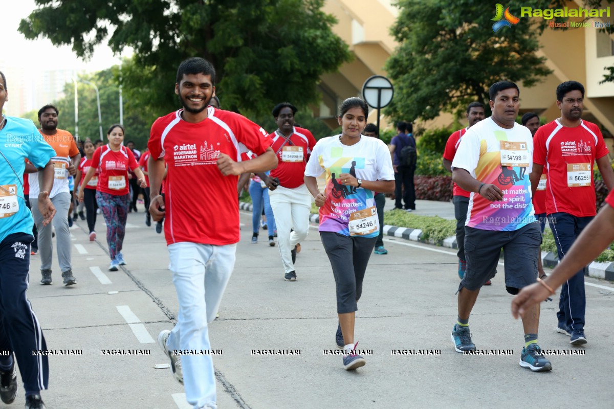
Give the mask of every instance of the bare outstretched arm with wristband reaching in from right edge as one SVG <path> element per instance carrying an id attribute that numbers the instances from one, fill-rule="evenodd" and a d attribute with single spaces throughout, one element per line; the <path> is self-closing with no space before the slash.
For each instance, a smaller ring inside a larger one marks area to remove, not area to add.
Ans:
<path id="1" fill-rule="evenodd" d="M 576 275 L 579 269 L 596 259 L 614 241 L 614 191 L 610 191 L 605 203 L 548 278 L 526 286 L 511 300 L 511 314 L 514 318 L 523 316 L 530 307 L 554 295 L 554 291 L 565 280 Z"/>

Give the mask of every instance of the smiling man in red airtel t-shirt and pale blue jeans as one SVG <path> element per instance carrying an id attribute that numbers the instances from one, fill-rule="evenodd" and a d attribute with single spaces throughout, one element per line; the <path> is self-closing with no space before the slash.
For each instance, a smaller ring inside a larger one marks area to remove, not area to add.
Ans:
<path id="1" fill-rule="evenodd" d="M 216 407 L 213 362 L 209 354 L 181 351 L 211 350 L 208 322 L 216 318 L 240 239 L 237 177 L 277 164 L 270 138 L 260 126 L 207 106 L 215 80 L 216 71 L 205 59 L 181 63 L 175 93 L 184 109 L 158 118 L 148 143 L 149 212 L 155 221 L 166 217 L 169 269 L 179 300 L 177 324 L 172 332 L 160 332 L 158 344 L 195 408 Z M 247 150 L 257 157 L 241 161 Z M 159 193 L 165 162 L 163 199 Z"/>

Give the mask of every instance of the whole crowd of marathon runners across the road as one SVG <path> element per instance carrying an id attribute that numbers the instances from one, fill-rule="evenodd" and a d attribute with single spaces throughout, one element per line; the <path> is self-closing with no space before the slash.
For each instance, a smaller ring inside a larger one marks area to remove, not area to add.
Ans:
<path id="1" fill-rule="evenodd" d="M 308 235 L 312 202 L 319 208 L 319 235 L 336 286 L 335 343 L 343 350 L 344 369 L 365 365 L 354 338 L 357 302 L 371 254 L 387 253 L 382 240 L 384 194 L 396 188 L 396 204 L 402 208 L 399 183 L 405 184 L 405 173 L 413 179 L 413 169 L 403 169 L 404 159 L 395 153 L 407 145 L 415 151 L 411 128 L 401 123 L 395 143 L 386 145 L 376 126 L 367 124 L 367 103 L 350 97 L 339 107 L 338 135 L 316 140 L 295 123 L 297 107 L 289 102 L 272 108 L 278 128 L 266 132 L 238 113 L 220 109 L 215 83 L 216 72 L 208 61 L 183 61 L 175 85 L 182 108 L 153 123 L 142 152 L 125 141 L 130 129 L 122 124 L 112 124 L 104 142 L 77 141 L 58 128 L 59 112 L 53 105 L 39 111 L 38 129 L 31 121 L 2 116 L 0 349 L 11 351 L 0 356 L 3 402 L 12 402 L 17 394 L 17 363 L 26 408 L 45 407 L 40 391 L 47 388 L 49 365 L 45 356 L 28 354 L 46 348 L 26 299 L 29 258 L 41 258 L 40 282 L 51 285 L 55 237 L 63 285 L 77 285 L 69 226 L 85 221 L 89 240 L 97 240 L 96 216 L 102 213 L 109 270 L 118 270 L 131 262 L 122 253 L 123 240 L 127 215 L 138 212 L 141 195 L 142 223 L 155 223 L 156 231 L 164 232 L 179 301 L 177 324 L 160 332 L 158 343 L 174 378 L 184 385 L 187 401 L 195 409 L 216 408 L 211 355 L 177 356 L 172 351 L 211 350 L 208 324 L 216 318 L 233 272 L 240 239 L 237 196 L 247 183 L 253 204 L 251 243 L 258 243 L 261 230 L 267 231 L 268 245 L 279 250 L 280 280 L 297 281 L 295 261 Z M 476 349 L 470 313 L 481 287 L 490 285 L 497 273 L 503 250 L 505 288 L 518 294 L 513 314 L 523 319 L 519 364 L 542 372 L 552 364 L 537 343 L 539 302 L 558 286 L 563 290 L 556 331 L 568 335 L 573 345 L 588 342 L 583 269 L 614 239 L 612 195 L 597 217 L 600 223 L 591 223 L 596 215 L 593 164 L 609 189 L 614 187 L 614 172 L 599 128 L 580 118 L 580 83 L 558 86 L 561 117 L 543 126 L 535 113 L 524 115 L 523 125 L 516 123 L 519 93 L 515 83 L 493 84 L 491 117 L 486 118 L 480 102 L 468 105 L 467 128 L 454 132 L 446 145 L 443 162 L 455 182 L 461 280 L 451 338 L 459 353 Z M 7 100 L 2 74 L 0 110 Z M 410 136 L 404 133 L 408 130 Z M 11 134 L 26 140 L 11 142 Z M 201 181 L 207 188 L 190 189 L 185 180 Z M 414 201 L 406 200 L 405 210 L 414 210 Z M 214 208 L 216 217 L 204 217 Z M 562 259 L 550 277 L 540 261 L 546 221 Z"/>

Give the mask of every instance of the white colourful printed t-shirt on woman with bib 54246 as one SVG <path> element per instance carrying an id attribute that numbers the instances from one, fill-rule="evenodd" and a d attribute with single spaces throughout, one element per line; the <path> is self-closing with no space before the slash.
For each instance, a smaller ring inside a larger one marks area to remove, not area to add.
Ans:
<path id="1" fill-rule="evenodd" d="M 339 138 L 340 135 L 320 139 L 305 168 L 306 176 L 318 177 L 326 172 L 326 199 L 319 212 L 319 231 L 377 237 L 380 226 L 373 192 L 342 185 L 339 175 L 348 173 L 371 181 L 394 180 L 390 150 L 376 138 L 361 136 L 352 146 L 343 145 Z M 360 234 L 350 234 L 349 223 Z"/>

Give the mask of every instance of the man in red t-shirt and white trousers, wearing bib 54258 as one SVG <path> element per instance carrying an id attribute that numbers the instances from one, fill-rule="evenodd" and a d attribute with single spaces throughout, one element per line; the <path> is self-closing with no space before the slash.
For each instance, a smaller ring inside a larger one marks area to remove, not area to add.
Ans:
<path id="1" fill-rule="evenodd" d="M 307 129 L 294 126 L 297 107 L 289 102 L 275 105 L 272 113 L 279 128 L 269 137 L 279 163 L 270 175 L 260 173 L 258 176 L 270 190 L 269 202 L 277 227 L 279 253 L 284 263 L 284 280 L 296 281 L 294 262 L 297 245 L 307 237 L 311 211 L 311 194 L 305 186 L 303 175 L 316 139 Z"/>

